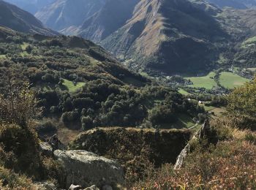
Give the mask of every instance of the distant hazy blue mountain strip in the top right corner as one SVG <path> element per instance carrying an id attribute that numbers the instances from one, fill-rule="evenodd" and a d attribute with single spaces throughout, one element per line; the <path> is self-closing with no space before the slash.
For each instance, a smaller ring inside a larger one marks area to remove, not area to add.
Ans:
<path id="1" fill-rule="evenodd" d="M 235 9 L 247 9 L 256 6 L 255 0 L 206 0 L 218 7 L 232 7 Z"/>

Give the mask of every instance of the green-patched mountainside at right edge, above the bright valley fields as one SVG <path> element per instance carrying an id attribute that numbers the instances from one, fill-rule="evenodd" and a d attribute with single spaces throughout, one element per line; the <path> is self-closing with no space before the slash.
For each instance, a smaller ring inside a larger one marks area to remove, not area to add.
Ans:
<path id="1" fill-rule="evenodd" d="M 232 36 L 222 64 L 241 68 L 255 67 L 256 62 L 256 10 L 225 9 L 219 14 L 220 23 Z"/>

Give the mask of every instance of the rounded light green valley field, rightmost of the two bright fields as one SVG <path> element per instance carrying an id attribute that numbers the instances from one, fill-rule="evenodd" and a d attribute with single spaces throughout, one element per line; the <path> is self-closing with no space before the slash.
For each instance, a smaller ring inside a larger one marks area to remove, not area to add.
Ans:
<path id="1" fill-rule="evenodd" d="M 219 76 L 219 83 L 229 89 L 242 86 L 246 82 L 249 82 L 249 79 L 240 77 L 232 72 L 222 72 Z"/>

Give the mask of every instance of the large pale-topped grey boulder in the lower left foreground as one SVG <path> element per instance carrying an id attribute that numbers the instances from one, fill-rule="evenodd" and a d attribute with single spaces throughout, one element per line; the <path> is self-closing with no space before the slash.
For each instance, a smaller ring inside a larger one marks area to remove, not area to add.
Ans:
<path id="1" fill-rule="evenodd" d="M 116 161 L 88 151 L 54 151 L 67 172 L 67 188 L 71 184 L 99 187 L 124 183 L 124 170 Z"/>

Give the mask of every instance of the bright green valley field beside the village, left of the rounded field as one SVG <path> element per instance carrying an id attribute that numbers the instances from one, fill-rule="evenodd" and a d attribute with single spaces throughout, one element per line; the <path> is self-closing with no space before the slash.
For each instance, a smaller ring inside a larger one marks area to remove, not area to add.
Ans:
<path id="1" fill-rule="evenodd" d="M 185 79 L 192 81 L 193 85 L 189 85 L 191 87 L 211 89 L 217 86 L 214 76 L 215 72 L 210 72 L 205 77 L 185 77 Z"/>

